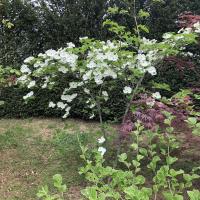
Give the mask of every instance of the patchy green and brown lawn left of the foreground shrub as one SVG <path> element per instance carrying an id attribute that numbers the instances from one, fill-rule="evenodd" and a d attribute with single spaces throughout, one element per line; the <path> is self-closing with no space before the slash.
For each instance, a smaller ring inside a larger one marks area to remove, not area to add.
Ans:
<path id="1" fill-rule="evenodd" d="M 71 199 L 80 199 L 77 134 L 92 143 L 98 130 L 98 124 L 76 120 L 0 120 L 0 199 L 36 199 L 38 187 L 51 184 L 56 173 L 62 174 Z"/>

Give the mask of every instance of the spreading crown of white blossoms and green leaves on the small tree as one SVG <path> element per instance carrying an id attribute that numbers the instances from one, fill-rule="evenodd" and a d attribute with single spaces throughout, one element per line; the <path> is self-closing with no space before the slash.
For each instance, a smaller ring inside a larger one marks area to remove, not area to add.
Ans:
<path id="1" fill-rule="evenodd" d="M 106 21 L 111 29 L 120 29 L 120 26 Z M 198 30 L 199 27 L 195 27 Z M 156 75 L 156 64 L 164 57 L 177 55 L 183 46 L 195 42 L 197 35 L 187 29 L 180 33 L 166 33 L 163 41 L 148 40 L 138 37 L 130 41 L 131 35 L 127 37 L 125 32 L 121 37 L 123 40 L 98 41 L 87 37 L 80 38 L 81 46 L 75 47 L 68 43 L 67 48 L 48 50 L 38 57 L 29 57 L 21 67 L 22 76 L 18 81 L 32 89 L 34 87 L 53 88 L 56 85 L 55 78 L 60 74 L 73 74 L 77 81 L 66 85 L 58 102 L 49 102 L 49 107 L 58 108 L 63 111 L 63 118 L 69 115 L 71 104 L 79 95 L 77 88 L 88 98 L 85 105 L 91 109 L 96 107 L 101 116 L 101 103 L 107 101 L 110 91 L 104 90 L 105 82 L 111 80 L 122 80 L 123 92 L 127 97 L 132 96 L 133 88 L 142 81 L 146 73 Z M 129 33 L 130 34 L 130 33 Z M 134 43 L 133 43 L 134 42 Z M 130 50 L 134 46 L 135 50 Z M 112 89 L 112 88 L 110 88 Z M 25 100 L 33 97 L 31 91 L 24 96 Z M 90 118 L 94 117 L 91 113 Z"/>

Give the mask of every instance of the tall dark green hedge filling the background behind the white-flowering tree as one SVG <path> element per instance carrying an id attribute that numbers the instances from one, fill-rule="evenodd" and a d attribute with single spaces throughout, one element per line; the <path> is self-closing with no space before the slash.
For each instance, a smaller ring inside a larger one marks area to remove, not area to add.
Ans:
<path id="1" fill-rule="evenodd" d="M 36 7 L 29 0 L 2 0 L 0 4 L 0 21 L 9 19 L 14 27 L 7 29 L 0 23 L 0 65 L 16 66 L 19 68 L 22 61 L 30 56 L 37 55 L 47 49 L 64 47 L 67 42 L 78 45 L 78 38 L 89 36 L 99 39 L 113 37 L 102 27 L 106 10 L 109 5 L 126 7 L 123 0 L 41 0 L 41 7 Z M 143 8 L 150 11 L 150 18 L 146 25 L 150 28 L 150 37 L 160 39 L 164 32 L 176 31 L 176 20 L 183 11 L 191 11 L 200 15 L 199 0 L 162 0 L 153 3 L 152 0 L 138 0 L 137 9 Z M 115 16 L 121 24 L 132 26 L 134 19 L 126 16 Z M 200 45 L 192 49 L 200 52 Z M 197 59 L 198 60 L 198 59 Z M 171 88 L 178 91 L 180 88 L 195 86 L 200 87 L 200 64 L 196 62 L 196 71 L 191 69 L 180 73 L 175 64 L 158 66 L 159 75 L 157 82 L 168 83 Z M 0 107 L 0 117 L 28 117 L 28 116 L 61 116 L 60 111 L 48 108 L 49 100 L 56 99 L 70 81 L 61 80 L 53 91 L 38 90 L 36 99 L 29 104 L 23 101 L 27 91 L 18 86 L 1 89 L 1 100 L 5 104 Z M 148 78 L 146 79 L 148 82 Z M 123 83 L 114 86 L 111 100 L 107 103 L 104 115 L 107 119 L 119 118 L 122 115 Z M 109 86 L 108 86 L 109 87 Z M 81 98 L 84 98 L 82 96 Z M 89 109 L 79 98 L 72 109 L 72 116 L 88 118 Z"/>

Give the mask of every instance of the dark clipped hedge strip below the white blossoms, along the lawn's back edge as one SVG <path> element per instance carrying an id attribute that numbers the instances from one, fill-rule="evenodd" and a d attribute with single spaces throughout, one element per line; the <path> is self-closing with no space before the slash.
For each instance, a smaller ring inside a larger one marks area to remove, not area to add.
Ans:
<path id="1" fill-rule="evenodd" d="M 0 117 L 7 118 L 26 118 L 26 117 L 61 117 L 60 110 L 48 108 L 49 101 L 58 102 L 64 90 L 66 82 L 60 82 L 54 90 L 35 89 L 35 98 L 25 103 L 23 96 L 29 91 L 26 88 L 18 86 L 2 88 L 0 99 L 5 103 L 0 106 Z M 111 87 L 108 85 L 107 87 Z M 125 103 L 123 91 L 123 83 L 117 86 L 112 85 L 110 99 L 103 105 L 103 117 L 107 120 L 117 120 L 123 115 L 123 107 Z M 78 93 L 81 91 L 77 91 Z M 89 119 L 92 111 L 87 108 L 86 96 L 84 93 L 73 101 L 71 109 L 71 117 L 80 119 Z M 97 110 L 95 111 L 97 114 Z"/>

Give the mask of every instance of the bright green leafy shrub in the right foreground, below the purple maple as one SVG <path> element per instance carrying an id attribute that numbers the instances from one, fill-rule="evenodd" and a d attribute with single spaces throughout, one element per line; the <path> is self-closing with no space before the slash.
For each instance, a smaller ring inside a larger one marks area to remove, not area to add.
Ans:
<path id="1" fill-rule="evenodd" d="M 131 152 L 122 153 L 118 161 L 125 167 L 114 168 L 106 164 L 102 151 L 81 145 L 81 158 L 85 166 L 80 168 L 90 183 L 82 190 L 89 200 L 127 199 L 127 200 L 183 200 L 185 191 L 193 189 L 193 181 L 199 179 L 197 169 L 190 173 L 174 168 L 178 158 L 173 152 L 179 148 L 179 142 L 173 135 L 174 116 L 164 112 L 165 128 L 155 132 L 145 130 L 138 121 L 132 133 Z M 101 144 L 102 146 L 102 144 Z M 127 151 L 128 152 L 128 151 Z M 150 184 L 149 184 L 150 183 Z M 188 191 L 191 200 L 199 198 L 199 191 Z"/>

